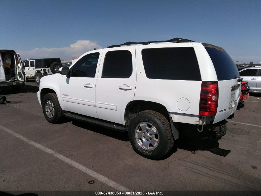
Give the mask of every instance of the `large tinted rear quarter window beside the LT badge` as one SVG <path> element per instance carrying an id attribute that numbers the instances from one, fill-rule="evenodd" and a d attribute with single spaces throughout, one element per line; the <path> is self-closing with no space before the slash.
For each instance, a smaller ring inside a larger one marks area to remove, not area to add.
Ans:
<path id="1" fill-rule="evenodd" d="M 150 48 L 143 49 L 141 54 L 150 79 L 201 81 L 193 47 Z"/>

